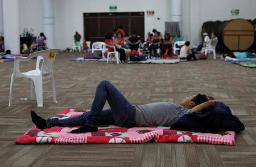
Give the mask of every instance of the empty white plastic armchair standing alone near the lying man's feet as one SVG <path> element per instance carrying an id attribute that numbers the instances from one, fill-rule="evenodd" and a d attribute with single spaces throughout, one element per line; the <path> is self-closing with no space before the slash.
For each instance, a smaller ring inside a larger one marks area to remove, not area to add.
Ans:
<path id="1" fill-rule="evenodd" d="M 51 84 L 52 84 L 53 102 L 55 102 L 55 103 L 57 102 L 52 64 L 55 59 L 56 52 L 58 52 L 59 50 L 60 49 L 42 50 L 39 52 L 32 53 L 28 57 L 16 57 L 15 58 L 14 72 L 13 72 L 13 74 L 11 74 L 9 106 L 11 106 L 11 102 L 13 100 L 13 83 L 14 83 L 14 79 L 16 77 L 31 79 L 31 100 L 35 100 L 35 96 L 36 96 L 36 101 L 38 103 L 38 107 L 43 106 L 43 78 L 50 78 Z M 19 63 L 22 61 L 29 61 L 33 57 L 37 57 L 36 69 L 27 71 L 27 72 L 20 72 L 19 71 Z M 42 62 L 42 65 L 39 67 L 41 60 L 43 60 L 43 62 Z"/>

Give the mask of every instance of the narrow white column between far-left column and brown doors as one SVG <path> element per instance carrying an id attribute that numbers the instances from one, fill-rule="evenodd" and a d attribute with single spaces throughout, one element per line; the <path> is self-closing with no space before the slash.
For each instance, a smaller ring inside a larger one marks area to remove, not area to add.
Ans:
<path id="1" fill-rule="evenodd" d="M 43 0 L 43 30 L 47 37 L 47 47 L 55 48 L 54 0 Z"/>

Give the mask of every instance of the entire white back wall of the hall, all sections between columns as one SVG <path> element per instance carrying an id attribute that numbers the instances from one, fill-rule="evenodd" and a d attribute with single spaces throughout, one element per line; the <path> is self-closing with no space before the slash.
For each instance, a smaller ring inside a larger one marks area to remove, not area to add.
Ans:
<path id="1" fill-rule="evenodd" d="M 0 0 L 1 1 L 1 0 Z M 256 18 L 255 0 L 180 0 L 183 1 L 183 36 L 188 36 L 191 45 L 198 45 L 201 40 L 201 26 L 204 22 L 230 20 L 236 18 Z M 145 33 L 153 28 L 164 33 L 164 22 L 170 20 L 170 0 L 55 0 L 55 37 L 56 47 L 64 49 L 73 45 L 73 35 L 78 31 L 84 35 L 84 12 L 110 12 L 109 6 L 116 5 L 116 12 L 145 12 Z M 24 27 L 35 29 L 38 35 L 43 31 L 43 6 L 40 0 L 19 0 L 20 33 Z M 231 10 L 240 10 L 233 16 Z M 155 15 L 147 16 L 147 10 L 154 10 Z M 156 18 L 160 18 L 157 20 Z M 1 20 L 0 20 L 1 21 Z M 1 23 L 1 22 L 0 22 Z M 1 27 L 1 26 L 0 26 Z"/>

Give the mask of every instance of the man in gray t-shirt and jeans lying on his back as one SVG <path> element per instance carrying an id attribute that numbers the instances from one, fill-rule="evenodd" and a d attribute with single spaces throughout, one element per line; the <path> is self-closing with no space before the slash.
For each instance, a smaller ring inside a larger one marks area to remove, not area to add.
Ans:
<path id="1" fill-rule="evenodd" d="M 106 100 L 111 109 L 102 110 Z M 75 127 L 71 133 L 98 131 L 98 125 L 118 125 L 120 127 L 138 126 L 172 126 L 184 114 L 200 112 L 204 108 L 213 108 L 215 99 L 206 95 L 193 95 L 176 105 L 170 102 L 156 102 L 134 106 L 108 81 L 101 81 L 96 89 L 96 95 L 90 112 L 77 117 L 59 119 L 43 119 L 31 112 L 32 122 L 38 129 L 53 126 Z"/>

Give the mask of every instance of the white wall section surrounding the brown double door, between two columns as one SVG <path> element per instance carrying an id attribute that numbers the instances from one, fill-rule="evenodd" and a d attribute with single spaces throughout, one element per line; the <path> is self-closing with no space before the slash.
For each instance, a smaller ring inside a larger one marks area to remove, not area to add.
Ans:
<path id="1" fill-rule="evenodd" d="M 115 12 L 138 12 L 144 11 L 145 34 L 151 32 L 153 28 L 164 32 L 164 22 L 166 22 L 166 0 L 55 0 L 55 25 L 56 25 L 56 47 L 65 48 L 73 45 L 75 31 L 84 35 L 83 13 L 84 12 L 110 12 L 109 6 L 116 5 Z M 168 0 L 167 0 L 168 1 Z M 154 16 L 147 16 L 146 11 L 153 9 Z M 160 20 L 157 20 L 160 18 Z"/>

